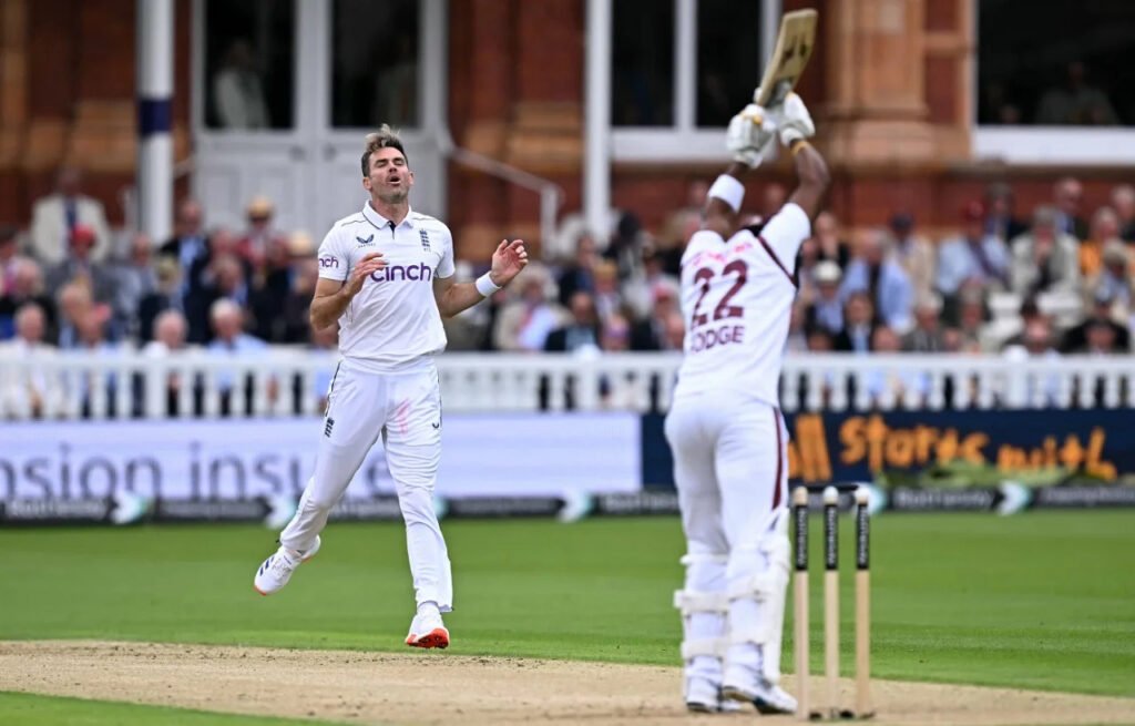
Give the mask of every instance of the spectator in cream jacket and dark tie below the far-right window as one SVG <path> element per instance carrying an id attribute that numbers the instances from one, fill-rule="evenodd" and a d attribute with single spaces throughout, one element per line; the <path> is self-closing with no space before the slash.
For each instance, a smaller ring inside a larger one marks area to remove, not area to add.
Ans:
<path id="1" fill-rule="evenodd" d="M 1057 230 L 1051 206 L 1037 208 L 1029 231 L 1012 243 L 1011 288 L 1022 297 L 1079 290 L 1076 238 Z"/>

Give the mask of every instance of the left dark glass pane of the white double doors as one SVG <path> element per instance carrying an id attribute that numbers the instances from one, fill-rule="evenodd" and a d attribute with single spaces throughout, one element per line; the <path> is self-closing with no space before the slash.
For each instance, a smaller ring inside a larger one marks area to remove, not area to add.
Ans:
<path id="1" fill-rule="evenodd" d="M 292 127 L 295 5 L 205 2 L 205 125 L 259 130 Z"/>

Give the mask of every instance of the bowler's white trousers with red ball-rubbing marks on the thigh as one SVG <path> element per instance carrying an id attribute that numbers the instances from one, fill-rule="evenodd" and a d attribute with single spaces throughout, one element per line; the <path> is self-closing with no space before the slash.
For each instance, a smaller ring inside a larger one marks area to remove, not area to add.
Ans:
<path id="1" fill-rule="evenodd" d="M 434 513 L 434 486 L 442 458 L 442 391 L 431 357 L 411 370 L 371 373 L 339 365 L 320 430 L 316 473 L 300 499 L 280 544 L 303 551 L 327 526 L 327 516 L 382 438 L 386 462 L 406 524 L 406 551 L 419 603 L 453 609 L 453 576 L 445 538 Z"/>

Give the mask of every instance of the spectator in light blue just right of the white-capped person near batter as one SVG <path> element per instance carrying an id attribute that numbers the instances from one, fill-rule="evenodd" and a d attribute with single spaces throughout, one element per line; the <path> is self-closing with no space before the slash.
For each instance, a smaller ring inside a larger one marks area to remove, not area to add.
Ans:
<path id="1" fill-rule="evenodd" d="M 883 322 L 896 330 L 910 327 L 914 290 L 910 279 L 889 254 L 890 236 L 885 229 L 871 229 L 859 240 L 856 256 L 843 272 L 840 294 L 867 293 Z"/>

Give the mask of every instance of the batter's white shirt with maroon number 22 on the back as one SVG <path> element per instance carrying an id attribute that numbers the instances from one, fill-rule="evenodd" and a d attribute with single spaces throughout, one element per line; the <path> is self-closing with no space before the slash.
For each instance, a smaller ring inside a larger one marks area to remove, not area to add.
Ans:
<path id="1" fill-rule="evenodd" d="M 764 229 L 729 240 L 709 230 L 682 254 L 686 356 L 675 396 L 726 390 L 779 406 L 777 386 L 796 299 L 796 255 L 812 234 L 808 216 L 785 204 Z"/>

